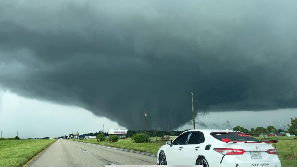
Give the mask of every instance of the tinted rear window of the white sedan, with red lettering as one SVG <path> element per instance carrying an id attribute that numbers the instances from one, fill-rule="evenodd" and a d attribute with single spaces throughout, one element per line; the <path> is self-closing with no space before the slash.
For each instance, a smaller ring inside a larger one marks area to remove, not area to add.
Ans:
<path id="1" fill-rule="evenodd" d="M 220 141 L 222 141 L 222 139 L 230 139 L 231 141 L 260 142 L 251 135 L 242 133 L 214 133 L 212 136 Z"/>

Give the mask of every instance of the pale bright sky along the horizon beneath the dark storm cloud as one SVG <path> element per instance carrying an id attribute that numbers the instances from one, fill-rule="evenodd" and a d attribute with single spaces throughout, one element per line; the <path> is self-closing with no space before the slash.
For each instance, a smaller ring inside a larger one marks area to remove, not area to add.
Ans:
<path id="1" fill-rule="evenodd" d="M 94 116 L 90 111 L 79 107 L 27 99 L 9 91 L 0 91 L 0 99 L 2 137 L 15 137 L 17 131 L 19 131 L 19 137 L 25 139 L 52 135 L 59 137 L 68 135 L 72 131 L 79 131 L 80 134 L 93 133 L 102 130 L 102 124 L 105 131 L 110 128 L 125 128 L 108 118 Z M 295 113 L 296 109 L 207 113 L 197 115 L 196 128 L 231 129 L 240 125 L 250 129 L 256 126 L 273 125 L 277 129 L 283 129 L 283 126 L 290 122 L 288 116 L 295 116 Z M 149 123 L 151 123 L 150 119 L 148 114 Z M 282 126 L 279 126 L 279 121 Z M 144 125 L 141 125 L 138 129 L 143 127 Z M 149 124 L 147 127 L 149 130 L 153 128 Z M 192 127 L 192 121 L 189 121 L 175 130 L 182 131 Z"/>

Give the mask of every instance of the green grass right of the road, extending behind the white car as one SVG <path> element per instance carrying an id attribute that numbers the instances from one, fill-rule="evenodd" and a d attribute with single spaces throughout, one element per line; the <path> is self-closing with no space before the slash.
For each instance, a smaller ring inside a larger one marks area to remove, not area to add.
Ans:
<path id="1" fill-rule="evenodd" d="M 257 138 L 256 139 L 261 139 Z M 272 144 L 273 147 L 276 147 L 278 151 L 278 157 L 281 161 L 282 166 L 297 166 L 297 139 L 294 137 L 265 137 L 271 140 L 278 139 L 278 143 Z M 155 141 L 155 137 L 150 138 L 151 141 Z M 157 137 L 157 140 L 160 138 Z M 170 137 L 170 140 L 175 139 L 175 137 Z M 142 152 L 149 152 L 157 154 L 159 148 L 164 145 L 164 143 L 134 143 L 131 141 L 131 138 L 128 139 L 119 139 L 115 143 L 97 142 L 96 139 L 87 139 L 87 140 L 75 140 L 86 143 L 101 144 L 106 146 L 113 146 L 118 148 L 125 148 L 129 150 L 136 150 Z"/>

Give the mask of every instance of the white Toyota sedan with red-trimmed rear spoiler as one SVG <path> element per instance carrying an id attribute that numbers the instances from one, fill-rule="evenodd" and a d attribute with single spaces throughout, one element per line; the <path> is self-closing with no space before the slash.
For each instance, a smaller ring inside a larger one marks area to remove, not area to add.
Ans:
<path id="1" fill-rule="evenodd" d="M 157 154 L 157 165 L 281 166 L 269 143 L 229 130 L 189 130 L 167 141 Z"/>

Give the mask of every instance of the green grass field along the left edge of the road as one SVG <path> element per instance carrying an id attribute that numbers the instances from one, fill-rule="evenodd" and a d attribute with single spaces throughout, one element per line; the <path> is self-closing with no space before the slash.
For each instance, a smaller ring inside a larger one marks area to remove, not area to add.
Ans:
<path id="1" fill-rule="evenodd" d="M 56 139 L 2 140 L 0 166 L 22 166 Z"/>

